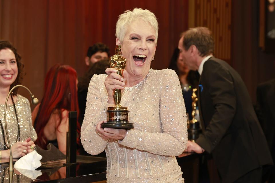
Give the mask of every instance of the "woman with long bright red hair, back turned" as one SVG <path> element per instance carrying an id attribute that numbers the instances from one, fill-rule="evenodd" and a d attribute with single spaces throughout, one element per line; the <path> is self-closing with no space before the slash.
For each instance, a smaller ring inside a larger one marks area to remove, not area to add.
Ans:
<path id="1" fill-rule="evenodd" d="M 68 65 L 56 64 L 48 71 L 42 102 L 32 112 L 34 128 L 38 134 L 35 144 L 41 148 L 46 149 L 48 143 L 54 144 L 57 141 L 58 149 L 66 154 L 68 113 L 79 111 L 77 82 L 76 71 Z"/>

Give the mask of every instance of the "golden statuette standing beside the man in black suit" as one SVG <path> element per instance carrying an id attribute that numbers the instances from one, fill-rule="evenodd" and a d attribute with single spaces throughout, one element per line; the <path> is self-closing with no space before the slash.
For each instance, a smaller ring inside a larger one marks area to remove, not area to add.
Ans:
<path id="1" fill-rule="evenodd" d="M 199 134 L 201 133 L 200 129 L 200 123 L 199 121 L 195 118 L 196 110 L 197 109 L 197 104 L 196 102 L 198 101 L 197 95 L 196 95 L 197 89 L 193 89 L 192 93 L 192 120 L 188 123 L 188 139 L 195 142 L 197 138 L 199 138 Z"/>

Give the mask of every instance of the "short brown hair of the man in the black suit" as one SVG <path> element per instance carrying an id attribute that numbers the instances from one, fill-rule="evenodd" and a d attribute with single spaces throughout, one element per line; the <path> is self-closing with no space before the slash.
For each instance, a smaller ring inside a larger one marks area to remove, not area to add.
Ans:
<path id="1" fill-rule="evenodd" d="M 183 39 L 183 47 L 187 51 L 191 45 L 195 45 L 200 52 L 200 56 L 204 57 L 214 52 L 214 39 L 211 31 L 207 27 L 190 28 L 181 34 Z"/>

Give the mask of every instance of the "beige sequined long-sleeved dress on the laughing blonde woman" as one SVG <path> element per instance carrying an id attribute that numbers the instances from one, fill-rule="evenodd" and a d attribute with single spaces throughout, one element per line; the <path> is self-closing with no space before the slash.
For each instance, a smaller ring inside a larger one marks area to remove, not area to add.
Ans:
<path id="1" fill-rule="evenodd" d="M 107 182 L 184 182 L 175 156 L 187 143 L 186 110 L 176 73 L 150 69 L 143 81 L 125 87 L 121 106 L 128 107 L 135 128 L 119 141 L 103 139 L 95 130 L 110 106 L 106 77 L 94 75 L 89 84 L 81 141 L 92 155 L 105 150 Z"/>

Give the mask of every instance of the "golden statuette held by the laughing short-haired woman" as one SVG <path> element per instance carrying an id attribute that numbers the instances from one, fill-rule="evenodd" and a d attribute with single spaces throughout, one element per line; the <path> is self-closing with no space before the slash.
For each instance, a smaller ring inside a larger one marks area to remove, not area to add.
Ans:
<path id="1" fill-rule="evenodd" d="M 123 77 L 123 70 L 126 66 L 126 59 L 121 55 L 121 45 L 116 45 L 115 55 L 109 59 L 110 67 L 117 70 L 117 74 Z M 120 105 L 121 89 L 114 89 L 113 97 L 115 106 L 108 107 L 107 110 L 107 123 L 101 124 L 102 128 L 120 128 L 131 129 L 134 128 L 133 123 L 128 121 L 127 107 Z"/>

